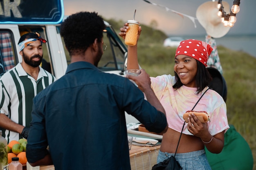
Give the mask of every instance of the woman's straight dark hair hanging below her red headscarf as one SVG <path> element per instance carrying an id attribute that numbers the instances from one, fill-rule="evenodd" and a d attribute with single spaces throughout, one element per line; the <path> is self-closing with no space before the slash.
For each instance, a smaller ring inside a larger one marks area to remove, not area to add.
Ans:
<path id="1" fill-rule="evenodd" d="M 211 75 L 209 74 L 207 68 L 200 61 L 196 60 L 196 63 L 198 65 L 198 69 L 195 75 L 195 84 L 197 87 L 196 94 L 199 94 L 211 82 Z M 173 85 L 173 88 L 178 89 L 183 84 L 180 81 L 178 74 L 176 72 L 174 74 L 175 74 L 176 83 Z"/>

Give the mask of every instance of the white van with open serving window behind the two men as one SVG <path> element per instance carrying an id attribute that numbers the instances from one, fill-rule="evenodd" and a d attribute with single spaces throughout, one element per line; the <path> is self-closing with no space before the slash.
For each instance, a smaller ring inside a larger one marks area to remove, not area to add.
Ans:
<path id="1" fill-rule="evenodd" d="M 110 24 L 105 22 L 103 41 L 107 45 L 99 69 L 104 72 L 123 75 L 127 57 L 127 48 L 119 39 Z M 65 74 L 70 56 L 59 33 L 60 24 L 0 24 L 0 75 L 13 68 L 22 57 L 18 50 L 20 36 L 28 32 L 38 32 L 47 40 L 43 44 L 42 67 L 51 72 L 57 79 Z"/>

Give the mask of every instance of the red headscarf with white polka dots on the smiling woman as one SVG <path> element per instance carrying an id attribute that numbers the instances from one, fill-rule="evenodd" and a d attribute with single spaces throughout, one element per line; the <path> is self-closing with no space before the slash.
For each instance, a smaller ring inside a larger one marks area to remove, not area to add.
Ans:
<path id="1" fill-rule="evenodd" d="M 200 61 L 206 67 L 212 50 L 213 48 L 204 41 L 187 39 L 180 42 L 180 46 L 178 46 L 175 53 L 175 58 L 177 55 L 184 54 Z"/>

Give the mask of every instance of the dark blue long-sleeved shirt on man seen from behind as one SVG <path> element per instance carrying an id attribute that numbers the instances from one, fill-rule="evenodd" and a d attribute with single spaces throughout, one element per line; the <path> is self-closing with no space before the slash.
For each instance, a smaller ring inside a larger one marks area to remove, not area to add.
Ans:
<path id="1" fill-rule="evenodd" d="M 56 170 L 130 170 L 124 111 L 157 133 L 167 125 L 128 78 L 70 64 L 34 98 L 27 160 L 45 157 L 49 145 Z"/>

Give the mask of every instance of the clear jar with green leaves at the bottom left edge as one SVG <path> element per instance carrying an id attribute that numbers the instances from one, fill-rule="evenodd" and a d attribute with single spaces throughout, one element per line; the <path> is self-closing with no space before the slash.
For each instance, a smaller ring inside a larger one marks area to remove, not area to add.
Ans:
<path id="1" fill-rule="evenodd" d="M 0 170 L 8 164 L 7 153 L 7 140 L 2 137 L 2 131 L 0 130 Z"/>

